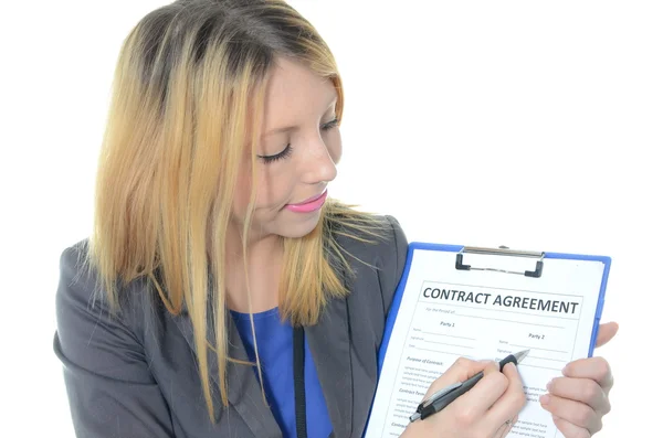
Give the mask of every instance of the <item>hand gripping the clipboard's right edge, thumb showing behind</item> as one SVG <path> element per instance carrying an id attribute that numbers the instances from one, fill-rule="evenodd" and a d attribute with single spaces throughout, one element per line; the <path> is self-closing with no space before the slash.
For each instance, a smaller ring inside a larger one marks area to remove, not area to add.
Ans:
<path id="1" fill-rule="evenodd" d="M 614 322 L 601 324 L 597 346 L 614 338 L 618 328 Z M 580 359 L 570 362 L 562 374 L 548 384 L 549 394 L 541 396 L 541 406 L 552 414 L 566 438 L 589 438 L 601 430 L 602 417 L 610 412 L 610 365 L 603 357 Z"/>

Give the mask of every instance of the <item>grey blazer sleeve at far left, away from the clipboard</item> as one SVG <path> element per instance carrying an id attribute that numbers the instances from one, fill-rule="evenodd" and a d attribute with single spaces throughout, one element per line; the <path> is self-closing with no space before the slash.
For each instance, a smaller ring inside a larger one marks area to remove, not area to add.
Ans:
<path id="1" fill-rule="evenodd" d="M 145 351 L 123 317 L 93 297 L 95 278 L 70 247 L 60 259 L 53 349 L 63 364 L 74 430 L 85 438 L 173 437 Z"/>

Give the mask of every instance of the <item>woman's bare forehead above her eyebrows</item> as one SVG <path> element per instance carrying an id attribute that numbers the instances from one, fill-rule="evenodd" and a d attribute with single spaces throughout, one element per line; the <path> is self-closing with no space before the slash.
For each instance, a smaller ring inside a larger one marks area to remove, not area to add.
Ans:
<path id="1" fill-rule="evenodd" d="M 267 82 L 265 130 L 299 125 L 322 117 L 336 100 L 332 79 L 320 77 L 304 65 L 281 58 Z"/>

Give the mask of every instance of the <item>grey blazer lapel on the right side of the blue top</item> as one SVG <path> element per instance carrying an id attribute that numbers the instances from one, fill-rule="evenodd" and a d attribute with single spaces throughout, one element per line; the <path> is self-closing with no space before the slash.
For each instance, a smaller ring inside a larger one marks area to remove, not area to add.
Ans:
<path id="1" fill-rule="evenodd" d="M 352 425 L 352 367 L 346 300 L 330 300 L 319 322 L 305 328 L 305 333 L 334 427 L 333 437 L 348 438 Z"/>

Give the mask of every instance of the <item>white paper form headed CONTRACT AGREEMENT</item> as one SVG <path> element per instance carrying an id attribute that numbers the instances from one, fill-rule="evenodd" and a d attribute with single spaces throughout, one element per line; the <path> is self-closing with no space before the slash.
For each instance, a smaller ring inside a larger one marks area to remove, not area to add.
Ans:
<path id="1" fill-rule="evenodd" d="M 547 383 L 587 357 L 604 264 L 544 259 L 540 278 L 456 270 L 452 252 L 415 249 L 366 437 L 402 434 L 430 384 L 460 356 L 499 361 L 529 349 L 518 365 L 527 404 L 508 437 L 559 438 L 539 404 Z M 464 263 L 532 270 L 532 259 L 464 255 Z"/>

